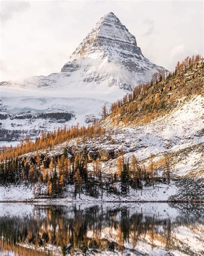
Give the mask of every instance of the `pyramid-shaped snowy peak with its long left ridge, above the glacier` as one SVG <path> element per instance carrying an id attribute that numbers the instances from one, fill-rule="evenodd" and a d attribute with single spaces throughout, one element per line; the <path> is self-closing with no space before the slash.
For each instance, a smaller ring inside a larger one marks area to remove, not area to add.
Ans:
<path id="1" fill-rule="evenodd" d="M 1 85 L 21 87 L 63 87 L 80 90 L 107 90 L 116 86 L 132 91 L 138 83 L 147 82 L 152 75 L 164 69 L 142 55 L 136 38 L 114 13 L 103 16 L 87 37 L 80 43 L 61 72 L 49 76 L 35 76 L 21 82 L 2 82 Z"/>

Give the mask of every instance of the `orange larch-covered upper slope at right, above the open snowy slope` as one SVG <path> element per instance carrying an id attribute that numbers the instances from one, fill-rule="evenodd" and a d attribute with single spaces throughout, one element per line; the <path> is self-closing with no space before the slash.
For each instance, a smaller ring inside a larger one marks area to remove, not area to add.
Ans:
<path id="1" fill-rule="evenodd" d="M 133 93 L 113 102 L 110 109 L 112 125 L 142 125 L 167 114 L 182 97 L 203 94 L 203 59 L 187 57 L 165 76 L 155 73 L 150 83 L 136 86 Z"/>

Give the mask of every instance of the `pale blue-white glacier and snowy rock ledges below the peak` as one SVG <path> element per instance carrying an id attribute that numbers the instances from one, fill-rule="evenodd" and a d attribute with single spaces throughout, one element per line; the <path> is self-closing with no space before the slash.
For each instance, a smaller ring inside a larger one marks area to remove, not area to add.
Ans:
<path id="1" fill-rule="evenodd" d="M 0 145 L 15 144 L 29 135 L 36 138 L 40 131 L 53 131 L 64 125 L 88 125 L 101 118 L 101 108 L 110 103 L 94 98 L 3 97 L 0 107 Z"/>

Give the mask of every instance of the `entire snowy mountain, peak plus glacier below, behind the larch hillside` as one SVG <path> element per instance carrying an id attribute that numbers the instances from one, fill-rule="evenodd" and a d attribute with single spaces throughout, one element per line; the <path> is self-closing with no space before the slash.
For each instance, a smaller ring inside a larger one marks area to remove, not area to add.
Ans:
<path id="1" fill-rule="evenodd" d="M 22 137 L 31 128 L 36 134 L 41 129 L 91 122 L 94 117 L 99 118 L 104 104 L 151 80 L 162 69 L 142 55 L 135 36 L 114 13 L 108 13 L 59 73 L 0 83 L 3 131 L 0 140 L 12 140 L 13 136 L 6 135 L 11 130 L 21 131 Z M 56 113 L 61 113 L 60 122 Z M 70 118 L 66 118 L 68 115 Z M 15 136 L 15 140 L 18 138 Z"/>

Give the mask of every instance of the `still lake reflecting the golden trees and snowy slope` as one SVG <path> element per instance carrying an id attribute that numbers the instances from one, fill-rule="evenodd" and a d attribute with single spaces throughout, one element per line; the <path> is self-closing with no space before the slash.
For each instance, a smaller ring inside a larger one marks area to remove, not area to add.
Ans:
<path id="1" fill-rule="evenodd" d="M 203 204 L 0 203 L 0 255 L 204 255 Z"/>

